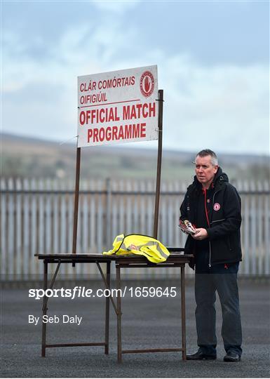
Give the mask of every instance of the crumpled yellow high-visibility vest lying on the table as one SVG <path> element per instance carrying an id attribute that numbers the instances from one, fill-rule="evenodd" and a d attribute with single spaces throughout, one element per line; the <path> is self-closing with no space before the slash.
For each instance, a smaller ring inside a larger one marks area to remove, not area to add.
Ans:
<path id="1" fill-rule="evenodd" d="M 142 234 L 119 234 L 114 239 L 113 248 L 104 251 L 104 255 L 144 255 L 150 262 L 165 262 L 170 255 L 168 249 L 160 241 Z"/>

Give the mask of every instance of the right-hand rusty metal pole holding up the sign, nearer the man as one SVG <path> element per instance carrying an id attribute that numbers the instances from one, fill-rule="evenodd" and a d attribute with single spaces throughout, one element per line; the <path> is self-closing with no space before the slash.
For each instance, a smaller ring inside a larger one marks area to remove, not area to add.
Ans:
<path id="1" fill-rule="evenodd" d="M 158 90 L 158 164 L 156 169 L 156 200 L 154 214 L 154 232 L 155 239 L 158 237 L 158 210 L 159 195 L 161 192 L 161 159 L 162 159 L 162 124 L 163 124 L 163 90 Z"/>

